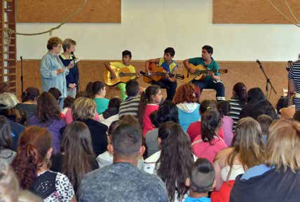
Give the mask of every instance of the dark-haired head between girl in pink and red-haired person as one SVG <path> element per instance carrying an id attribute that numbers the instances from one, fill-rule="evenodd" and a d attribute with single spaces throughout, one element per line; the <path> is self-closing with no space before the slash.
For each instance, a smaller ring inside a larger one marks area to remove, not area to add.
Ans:
<path id="1" fill-rule="evenodd" d="M 164 101 L 158 108 L 157 112 L 158 124 L 165 122 L 179 123 L 178 108 L 172 101 Z"/>

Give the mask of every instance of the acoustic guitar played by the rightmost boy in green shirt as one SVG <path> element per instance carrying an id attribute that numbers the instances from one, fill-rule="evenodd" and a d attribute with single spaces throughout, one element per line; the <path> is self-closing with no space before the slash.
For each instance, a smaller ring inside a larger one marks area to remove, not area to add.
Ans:
<path id="1" fill-rule="evenodd" d="M 192 80 L 204 80 L 204 73 L 208 73 L 208 70 L 205 66 L 198 64 L 197 66 L 193 65 L 193 64 L 189 64 L 189 66 L 191 67 L 191 69 L 193 69 L 193 71 L 195 71 L 194 73 L 191 73 L 189 71 L 186 70 L 186 68 L 184 68 L 184 75 L 185 78 L 183 80 L 184 83 L 187 82 L 191 82 Z M 213 73 L 227 73 L 228 70 L 226 68 L 220 68 L 217 71 L 212 71 Z"/>

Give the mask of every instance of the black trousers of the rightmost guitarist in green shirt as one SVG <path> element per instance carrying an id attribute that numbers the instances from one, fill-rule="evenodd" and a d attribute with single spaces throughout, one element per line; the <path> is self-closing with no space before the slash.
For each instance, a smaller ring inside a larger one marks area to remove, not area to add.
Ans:
<path id="1" fill-rule="evenodd" d="M 200 88 L 200 91 L 202 92 L 203 89 L 214 89 L 216 90 L 216 99 L 217 101 L 225 100 L 225 87 L 223 82 L 218 81 L 214 82 L 212 80 L 193 80 L 192 83 Z"/>

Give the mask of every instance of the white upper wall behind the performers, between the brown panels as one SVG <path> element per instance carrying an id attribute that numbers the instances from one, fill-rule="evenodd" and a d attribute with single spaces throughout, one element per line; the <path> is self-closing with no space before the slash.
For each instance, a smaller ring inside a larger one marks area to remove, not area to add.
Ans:
<path id="1" fill-rule="evenodd" d="M 132 59 L 149 59 L 161 57 L 168 46 L 175 48 L 175 59 L 186 59 L 200 55 L 203 45 L 212 45 L 213 57 L 222 61 L 287 61 L 300 53 L 300 28 L 212 24 L 212 0 L 123 0 L 121 15 L 121 24 L 69 23 L 53 36 L 73 38 L 80 59 L 121 59 L 125 49 Z M 56 25 L 18 23 L 17 31 L 34 33 Z M 18 36 L 18 59 L 41 59 L 49 37 Z"/>

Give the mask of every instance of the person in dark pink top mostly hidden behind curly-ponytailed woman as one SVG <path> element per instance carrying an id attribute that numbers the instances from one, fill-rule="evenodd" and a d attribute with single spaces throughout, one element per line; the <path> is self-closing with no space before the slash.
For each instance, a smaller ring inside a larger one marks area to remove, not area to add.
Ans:
<path id="1" fill-rule="evenodd" d="M 208 110 L 217 110 L 217 101 L 215 100 L 204 100 L 200 104 L 199 113 L 200 116 L 203 115 Z M 199 119 L 196 122 L 193 122 L 189 125 L 189 128 L 186 130 L 186 133 L 189 134 L 189 137 L 191 138 L 191 143 L 193 143 L 193 140 L 197 136 L 201 136 L 201 119 Z M 218 136 L 224 140 L 224 130 L 221 127 L 219 129 Z"/>

